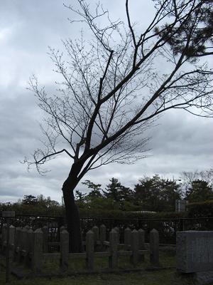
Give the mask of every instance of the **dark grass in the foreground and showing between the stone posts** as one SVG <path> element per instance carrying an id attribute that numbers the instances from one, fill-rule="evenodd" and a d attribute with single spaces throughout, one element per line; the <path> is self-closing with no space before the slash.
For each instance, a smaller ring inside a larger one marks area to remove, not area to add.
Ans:
<path id="1" fill-rule="evenodd" d="M 96 269 L 103 269 L 107 266 L 107 260 L 99 258 L 95 262 Z M 128 258 L 122 258 L 119 262 L 119 267 L 125 266 L 131 269 Z M 31 279 L 17 279 L 15 276 L 10 276 L 11 285 L 195 285 L 196 281 L 192 278 L 192 275 L 178 274 L 174 269 L 161 269 L 156 271 L 145 270 L 151 264 L 146 256 L 145 262 L 139 264 L 141 271 L 135 272 L 116 272 L 116 273 L 104 273 L 104 274 L 80 274 L 64 277 L 36 277 Z M 173 252 L 160 252 L 160 266 L 175 267 L 175 257 Z M 58 263 L 46 262 L 43 266 L 43 272 L 48 274 L 51 272 L 57 272 Z M 5 283 L 5 270 L 0 267 L 0 284 Z M 22 268 L 23 269 L 23 268 Z M 85 269 L 84 261 L 75 260 L 69 264 L 68 274 L 74 274 L 76 271 Z M 59 271 L 58 271 L 59 272 Z M 27 273 L 25 269 L 25 273 Z"/>

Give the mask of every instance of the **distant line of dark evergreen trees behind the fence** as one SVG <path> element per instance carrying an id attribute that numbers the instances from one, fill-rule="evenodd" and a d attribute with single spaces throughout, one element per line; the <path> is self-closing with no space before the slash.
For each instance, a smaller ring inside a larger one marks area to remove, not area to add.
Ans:
<path id="1" fill-rule="evenodd" d="M 143 177 L 133 189 L 112 177 L 103 189 L 102 185 L 85 180 L 87 192 L 75 191 L 75 201 L 81 209 L 107 211 L 174 212 L 175 199 L 192 202 L 213 200 L 213 170 L 182 172 L 181 179 L 168 179 L 153 175 Z M 63 214 L 63 205 L 50 197 L 24 195 L 15 203 L 1 203 L 0 209 L 14 209 L 19 213 Z"/>

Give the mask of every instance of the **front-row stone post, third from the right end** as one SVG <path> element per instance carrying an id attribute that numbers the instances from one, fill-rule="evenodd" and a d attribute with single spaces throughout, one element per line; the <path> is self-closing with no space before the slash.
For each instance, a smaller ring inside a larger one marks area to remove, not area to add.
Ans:
<path id="1" fill-rule="evenodd" d="M 112 229 L 109 233 L 109 268 L 116 268 L 118 266 L 118 232 Z"/>

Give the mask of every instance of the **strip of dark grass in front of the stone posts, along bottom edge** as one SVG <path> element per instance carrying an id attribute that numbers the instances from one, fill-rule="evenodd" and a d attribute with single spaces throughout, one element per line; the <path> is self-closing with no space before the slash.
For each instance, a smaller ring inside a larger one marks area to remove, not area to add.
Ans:
<path id="1" fill-rule="evenodd" d="M 1 271 L 0 284 L 5 282 L 5 272 Z M 161 271 L 141 271 L 120 274 L 87 274 L 60 278 L 16 279 L 11 276 L 11 285 L 192 285 L 197 284 L 192 276 L 182 276 L 175 269 Z"/>

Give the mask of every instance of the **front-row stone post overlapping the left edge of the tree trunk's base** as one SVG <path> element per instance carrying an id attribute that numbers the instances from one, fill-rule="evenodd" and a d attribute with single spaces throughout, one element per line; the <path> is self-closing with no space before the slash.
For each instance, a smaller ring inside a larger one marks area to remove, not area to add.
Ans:
<path id="1" fill-rule="evenodd" d="M 69 233 L 63 229 L 60 232 L 60 268 L 66 271 L 69 259 Z"/>

